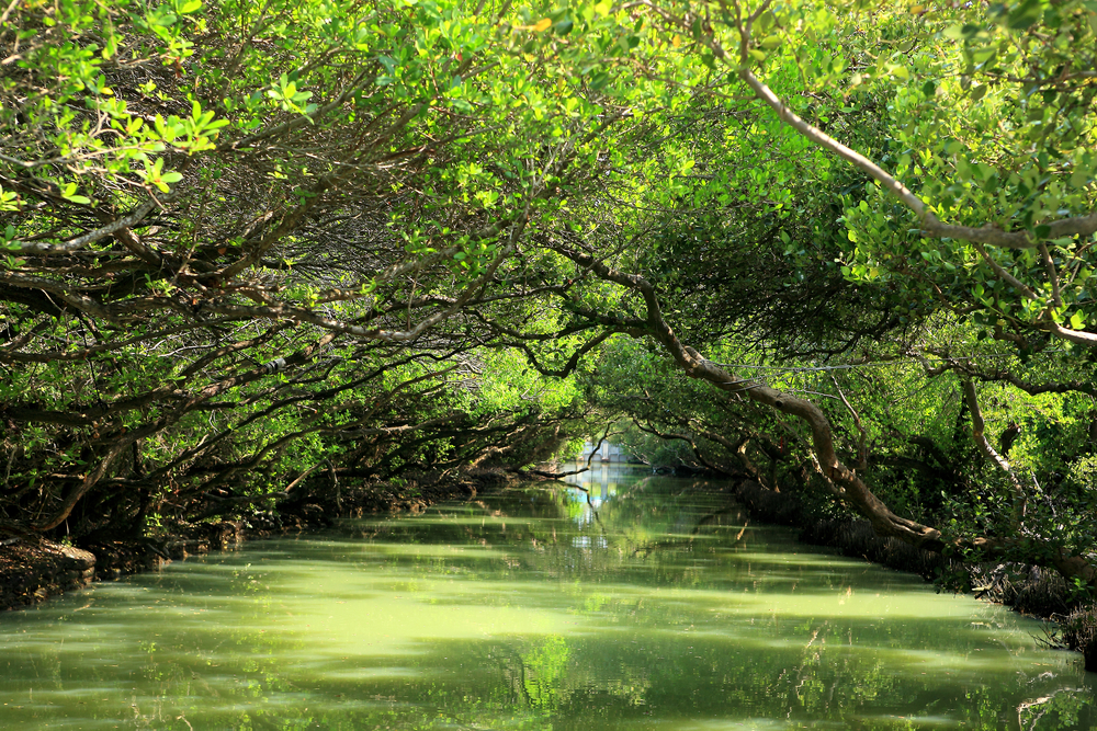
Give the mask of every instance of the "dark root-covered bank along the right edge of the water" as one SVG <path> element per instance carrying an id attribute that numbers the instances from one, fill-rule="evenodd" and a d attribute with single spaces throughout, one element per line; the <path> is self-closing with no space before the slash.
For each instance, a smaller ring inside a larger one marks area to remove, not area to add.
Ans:
<path id="1" fill-rule="evenodd" d="M 946 591 L 970 592 L 977 598 L 1058 623 L 1056 647 L 1081 652 L 1086 670 L 1097 671 L 1097 605 L 1071 599 L 1066 581 L 1056 572 L 1016 563 L 972 564 L 881 538 L 868 521 L 817 518 L 804 510 L 794 492 L 773 492 L 753 480 L 735 489 L 750 514 L 768 523 L 800 528 L 800 540 L 826 546 L 851 558 L 863 558 L 898 571 L 917 573 Z"/>

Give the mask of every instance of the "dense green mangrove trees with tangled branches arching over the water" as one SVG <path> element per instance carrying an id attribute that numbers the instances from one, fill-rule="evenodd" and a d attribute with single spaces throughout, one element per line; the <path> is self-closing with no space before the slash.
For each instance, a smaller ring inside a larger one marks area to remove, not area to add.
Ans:
<path id="1" fill-rule="evenodd" d="M 2 26 L 3 529 L 521 467 L 619 421 L 1097 584 L 1094 3 Z"/>

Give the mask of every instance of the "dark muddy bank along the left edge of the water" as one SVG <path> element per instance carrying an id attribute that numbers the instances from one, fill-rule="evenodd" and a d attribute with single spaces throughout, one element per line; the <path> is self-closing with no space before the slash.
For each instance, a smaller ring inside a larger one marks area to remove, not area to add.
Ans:
<path id="1" fill-rule="evenodd" d="M 0 542 L 0 610 L 18 609 L 92 581 L 151 571 L 188 556 L 225 550 L 248 537 L 315 530 L 337 518 L 394 511 L 420 512 L 445 500 L 472 498 L 517 479 L 502 470 L 475 470 L 400 484 L 373 483 L 323 494 L 301 491 L 276 511 L 249 509 L 233 521 L 176 523 L 158 535 L 67 546 L 34 536 Z"/>

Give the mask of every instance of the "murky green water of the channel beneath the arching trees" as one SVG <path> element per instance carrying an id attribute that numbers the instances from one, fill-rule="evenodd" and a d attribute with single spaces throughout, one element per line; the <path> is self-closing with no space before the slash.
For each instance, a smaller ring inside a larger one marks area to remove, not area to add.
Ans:
<path id="1" fill-rule="evenodd" d="M 2 615 L 0 728 L 1097 728 L 1038 621 L 584 477 Z"/>

